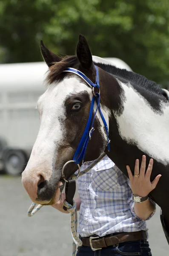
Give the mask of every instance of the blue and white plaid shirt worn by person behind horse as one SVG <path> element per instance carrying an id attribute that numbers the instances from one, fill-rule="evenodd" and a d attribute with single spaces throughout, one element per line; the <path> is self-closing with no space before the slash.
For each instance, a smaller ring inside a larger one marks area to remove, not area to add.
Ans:
<path id="1" fill-rule="evenodd" d="M 88 166 L 89 162 L 84 163 L 81 170 Z M 146 221 L 134 211 L 129 179 L 109 157 L 105 156 L 79 177 L 77 184 L 81 199 L 78 226 L 81 237 L 145 230 L 148 238 Z"/>

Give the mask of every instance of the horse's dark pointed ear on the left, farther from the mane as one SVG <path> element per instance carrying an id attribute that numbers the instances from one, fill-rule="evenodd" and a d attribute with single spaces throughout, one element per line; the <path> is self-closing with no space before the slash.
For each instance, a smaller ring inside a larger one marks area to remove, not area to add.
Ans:
<path id="1" fill-rule="evenodd" d="M 42 40 L 40 41 L 40 50 L 48 67 L 51 67 L 55 62 L 61 61 L 60 57 L 49 51 L 49 49 L 43 44 Z"/>

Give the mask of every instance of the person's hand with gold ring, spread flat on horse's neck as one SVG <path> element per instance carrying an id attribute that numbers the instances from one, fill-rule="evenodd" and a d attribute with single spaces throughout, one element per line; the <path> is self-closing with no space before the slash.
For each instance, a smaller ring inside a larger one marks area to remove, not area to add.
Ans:
<path id="1" fill-rule="evenodd" d="M 153 189 L 155 189 L 161 175 L 160 174 L 157 175 L 155 177 L 155 179 L 151 182 L 150 176 L 152 173 L 152 167 L 153 167 L 153 159 L 151 158 L 149 160 L 149 166 L 146 170 L 146 156 L 145 155 L 143 155 L 143 157 L 142 157 L 140 172 L 139 172 L 139 160 L 138 159 L 135 160 L 134 174 L 138 175 L 137 177 L 132 175 L 130 167 L 128 165 L 126 166 L 133 195 L 145 197 L 145 196 L 149 195 L 149 193 Z"/>

